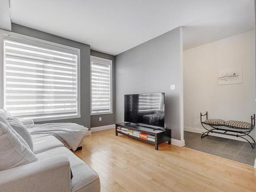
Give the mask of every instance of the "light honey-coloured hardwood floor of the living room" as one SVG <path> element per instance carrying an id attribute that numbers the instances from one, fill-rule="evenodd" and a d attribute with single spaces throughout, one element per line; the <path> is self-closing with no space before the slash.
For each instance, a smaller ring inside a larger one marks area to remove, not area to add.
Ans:
<path id="1" fill-rule="evenodd" d="M 101 191 L 256 191 L 252 166 L 167 143 L 156 151 L 114 132 L 94 132 L 75 152 L 99 174 Z"/>

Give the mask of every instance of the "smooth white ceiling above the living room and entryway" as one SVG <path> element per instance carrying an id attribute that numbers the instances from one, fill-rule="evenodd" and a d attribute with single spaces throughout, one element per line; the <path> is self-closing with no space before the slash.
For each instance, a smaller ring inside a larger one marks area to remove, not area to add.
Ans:
<path id="1" fill-rule="evenodd" d="M 11 0 L 11 14 L 112 55 L 179 26 L 184 49 L 254 29 L 253 0 Z"/>

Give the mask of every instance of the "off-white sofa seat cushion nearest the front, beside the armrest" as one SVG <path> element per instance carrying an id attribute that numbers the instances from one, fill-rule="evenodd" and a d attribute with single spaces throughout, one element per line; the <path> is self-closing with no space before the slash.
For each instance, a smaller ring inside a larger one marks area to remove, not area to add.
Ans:
<path id="1" fill-rule="evenodd" d="M 40 160 L 54 158 L 56 156 L 65 156 L 70 161 L 70 167 L 73 173 L 71 191 L 77 191 L 85 186 L 89 186 L 98 178 L 98 175 L 84 161 L 79 159 L 66 147 L 58 147 L 52 150 L 36 154 Z"/>

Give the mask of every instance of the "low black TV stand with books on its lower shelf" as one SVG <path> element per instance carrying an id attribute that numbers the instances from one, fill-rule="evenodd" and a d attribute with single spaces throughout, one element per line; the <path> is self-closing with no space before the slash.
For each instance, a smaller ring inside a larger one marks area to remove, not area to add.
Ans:
<path id="1" fill-rule="evenodd" d="M 139 131 L 142 133 L 147 133 L 150 135 L 154 135 L 155 136 L 155 142 L 154 141 L 150 141 L 150 140 L 145 140 L 145 139 L 141 139 L 139 137 L 135 137 L 133 135 L 130 134 L 126 134 L 123 132 L 118 131 L 117 127 L 121 126 L 121 127 L 125 127 L 126 129 L 130 129 L 130 130 L 134 130 L 134 131 Z M 143 126 L 143 125 L 138 125 L 138 124 L 133 124 L 133 123 L 116 123 L 116 128 L 115 128 L 115 134 L 116 136 L 118 136 L 118 133 L 122 134 L 122 135 L 126 135 L 128 137 L 140 140 L 140 141 L 144 141 L 147 143 L 151 143 L 155 145 L 155 150 L 158 150 L 158 144 L 164 143 L 166 141 L 168 141 L 168 144 L 171 144 L 171 139 L 172 139 L 172 132 L 170 129 L 154 129 L 153 127 L 148 127 L 148 126 Z"/>

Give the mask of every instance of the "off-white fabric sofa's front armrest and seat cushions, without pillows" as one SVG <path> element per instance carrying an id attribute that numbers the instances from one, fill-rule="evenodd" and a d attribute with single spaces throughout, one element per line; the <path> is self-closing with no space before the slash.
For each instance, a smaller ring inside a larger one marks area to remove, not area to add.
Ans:
<path id="1" fill-rule="evenodd" d="M 94 170 L 54 136 L 34 138 L 33 144 L 38 161 L 0 171 L 1 192 L 100 191 Z"/>

